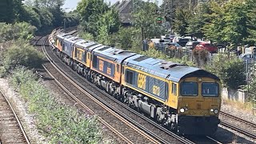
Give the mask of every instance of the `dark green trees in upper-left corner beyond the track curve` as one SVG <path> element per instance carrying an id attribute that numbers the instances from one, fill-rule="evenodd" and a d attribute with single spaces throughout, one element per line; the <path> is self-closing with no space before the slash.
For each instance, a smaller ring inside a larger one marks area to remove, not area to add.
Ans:
<path id="1" fill-rule="evenodd" d="M 65 0 L 21 0 L 0 2 L 0 22 L 27 22 L 37 27 L 38 32 L 47 33 L 58 26 L 78 25 L 78 15 L 62 10 Z M 28 29 L 29 30 L 29 29 Z"/>

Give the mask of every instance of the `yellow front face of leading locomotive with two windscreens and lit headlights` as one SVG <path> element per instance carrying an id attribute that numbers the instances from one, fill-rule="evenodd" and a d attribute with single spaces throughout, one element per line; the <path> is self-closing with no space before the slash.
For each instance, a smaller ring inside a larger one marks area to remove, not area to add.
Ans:
<path id="1" fill-rule="evenodd" d="M 221 83 L 213 78 L 185 78 L 178 82 L 178 130 L 181 134 L 210 135 L 218 128 Z"/>

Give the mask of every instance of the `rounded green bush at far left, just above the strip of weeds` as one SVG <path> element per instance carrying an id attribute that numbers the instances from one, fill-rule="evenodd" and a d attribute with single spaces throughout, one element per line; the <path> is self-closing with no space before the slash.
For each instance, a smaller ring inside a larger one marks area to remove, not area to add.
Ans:
<path id="1" fill-rule="evenodd" d="M 38 68 L 42 64 L 43 55 L 35 50 L 33 46 L 22 41 L 15 42 L 7 49 L 2 56 L 2 65 L 6 70 L 15 66 L 26 66 L 28 68 Z"/>

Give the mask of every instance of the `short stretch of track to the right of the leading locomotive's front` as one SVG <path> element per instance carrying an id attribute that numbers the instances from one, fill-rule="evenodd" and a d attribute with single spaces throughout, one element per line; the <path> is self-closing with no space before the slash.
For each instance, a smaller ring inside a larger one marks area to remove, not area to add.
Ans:
<path id="1" fill-rule="evenodd" d="M 238 131 L 250 138 L 256 139 L 256 125 L 248 122 L 242 118 L 235 117 L 234 115 L 220 112 L 221 125 L 226 126 L 232 130 Z M 232 123 L 231 123 L 232 122 Z"/>

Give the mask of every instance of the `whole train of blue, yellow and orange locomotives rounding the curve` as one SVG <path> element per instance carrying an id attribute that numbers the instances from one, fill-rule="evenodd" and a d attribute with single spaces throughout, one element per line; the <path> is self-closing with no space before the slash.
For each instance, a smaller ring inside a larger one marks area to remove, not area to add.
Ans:
<path id="1" fill-rule="evenodd" d="M 56 31 L 49 41 L 78 74 L 168 130 L 212 135 L 218 129 L 222 83 L 216 75 Z"/>

